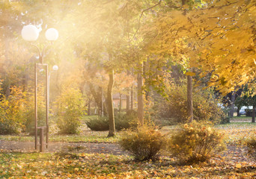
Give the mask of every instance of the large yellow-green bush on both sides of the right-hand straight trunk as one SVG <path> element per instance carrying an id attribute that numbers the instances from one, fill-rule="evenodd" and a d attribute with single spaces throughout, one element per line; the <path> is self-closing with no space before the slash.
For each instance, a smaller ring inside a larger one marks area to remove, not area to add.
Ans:
<path id="1" fill-rule="evenodd" d="M 222 108 L 218 106 L 214 92 L 211 89 L 202 90 L 199 87 L 193 88 L 193 111 L 196 121 L 210 121 L 218 124 L 223 118 Z M 173 84 L 168 87 L 168 99 L 158 101 L 159 119 L 169 119 L 171 123 L 186 123 L 187 121 L 187 95 L 186 83 Z"/>

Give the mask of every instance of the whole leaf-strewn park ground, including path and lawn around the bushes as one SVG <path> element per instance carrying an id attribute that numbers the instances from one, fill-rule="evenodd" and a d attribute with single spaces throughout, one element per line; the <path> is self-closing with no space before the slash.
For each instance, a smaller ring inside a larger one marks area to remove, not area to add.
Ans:
<path id="1" fill-rule="evenodd" d="M 135 161 L 121 150 L 118 137 L 103 140 L 107 132 L 85 133 L 95 137 L 93 142 L 82 142 L 78 136 L 63 136 L 76 142 L 51 138 L 55 142 L 44 153 L 34 151 L 33 137 L 1 136 L 0 178 L 256 178 L 256 163 L 242 142 L 255 133 L 256 125 L 240 122 L 215 128 L 226 134 L 227 149 L 209 163 L 196 165 L 179 165 L 168 154 L 157 161 Z"/>

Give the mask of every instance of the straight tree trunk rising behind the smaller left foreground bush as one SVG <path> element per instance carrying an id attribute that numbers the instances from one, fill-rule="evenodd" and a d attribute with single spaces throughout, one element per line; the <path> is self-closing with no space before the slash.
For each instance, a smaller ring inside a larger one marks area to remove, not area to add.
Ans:
<path id="1" fill-rule="evenodd" d="M 138 72 L 137 80 L 138 80 L 138 123 L 139 125 L 143 125 L 144 119 L 144 104 L 143 104 L 143 78 L 142 78 L 142 64 L 141 64 L 141 72 Z"/>

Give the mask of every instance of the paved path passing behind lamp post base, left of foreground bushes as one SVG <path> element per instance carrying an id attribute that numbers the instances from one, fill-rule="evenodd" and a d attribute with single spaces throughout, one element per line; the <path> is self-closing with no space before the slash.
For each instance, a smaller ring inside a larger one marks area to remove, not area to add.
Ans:
<path id="1" fill-rule="evenodd" d="M 0 151 L 34 152 L 34 142 L 0 140 Z M 39 149 L 37 150 L 39 151 Z M 116 143 L 51 142 L 45 152 L 83 152 L 100 154 L 128 154 Z"/>

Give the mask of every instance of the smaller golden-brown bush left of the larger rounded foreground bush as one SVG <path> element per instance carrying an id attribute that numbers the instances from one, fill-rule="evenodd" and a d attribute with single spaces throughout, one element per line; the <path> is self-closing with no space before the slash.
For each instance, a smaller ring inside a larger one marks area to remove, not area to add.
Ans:
<path id="1" fill-rule="evenodd" d="M 156 160 L 159 151 L 165 148 L 165 136 L 152 128 L 140 127 L 138 131 L 126 131 L 119 144 L 130 151 L 135 160 Z"/>

